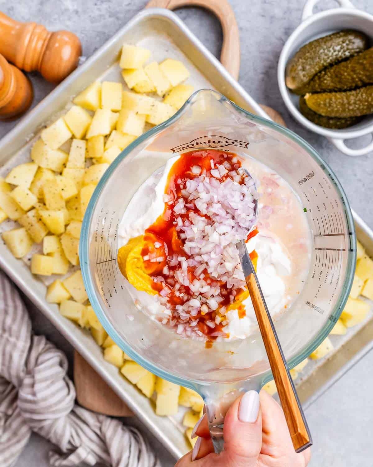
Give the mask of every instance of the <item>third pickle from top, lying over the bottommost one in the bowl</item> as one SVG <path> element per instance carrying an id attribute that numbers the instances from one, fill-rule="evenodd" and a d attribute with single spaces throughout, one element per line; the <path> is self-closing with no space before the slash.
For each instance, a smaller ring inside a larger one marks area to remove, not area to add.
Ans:
<path id="1" fill-rule="evenodd" d="M 326 117 L 359 117 L 373 113 L 373 86 L 354 91 L 306 94 L 307 106 Z"/>

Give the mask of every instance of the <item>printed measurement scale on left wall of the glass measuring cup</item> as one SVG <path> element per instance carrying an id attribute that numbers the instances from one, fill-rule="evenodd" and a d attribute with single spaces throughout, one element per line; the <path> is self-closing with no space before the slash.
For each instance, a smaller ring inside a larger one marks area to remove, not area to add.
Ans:
<path id="1" fill-rule="evenodd" d="M 115 287 L 115 280 L 119 272 L 117 252 L 114 249 L 112 241 L 117 239 L 120 219 L 116 219 L 114 216 L 115 211 L 110 212 L 108 210 L 104 211 L 104 208 L 101 209 L 95 231 L 96 269 L 101 283 L 101 292 L 109 307 L 109 299 L 112 297 L 112 294 L 118 293 Z M 114 233 L 112 232 L 113 228 L 115 228 Z M 113 238 L 111 238 L 112 236 Z M 111 287 L 104 287 L 103 284 L 105 283 L 110 284 Z"/>

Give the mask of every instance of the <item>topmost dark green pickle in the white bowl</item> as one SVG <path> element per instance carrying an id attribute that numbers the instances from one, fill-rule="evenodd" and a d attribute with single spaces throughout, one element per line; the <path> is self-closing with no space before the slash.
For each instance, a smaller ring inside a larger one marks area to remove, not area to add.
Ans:
<path id="1" fill-rule="evenodd" d="M 344 30 L 305 44 L 289 61 L 285 71 L 288 88 L 297 89 L 323 68 L 338 63 L 368 48 L 367 36 L 359 31 Z"/>

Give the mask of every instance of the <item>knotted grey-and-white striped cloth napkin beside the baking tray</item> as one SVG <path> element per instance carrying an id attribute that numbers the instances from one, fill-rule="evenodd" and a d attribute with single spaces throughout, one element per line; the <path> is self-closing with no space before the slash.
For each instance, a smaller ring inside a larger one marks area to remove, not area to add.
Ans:
<path id="1" fill-rule="evenodd" d="M 31 432 L 54 443 L 52 466 L 160 467 L 141 434 L 75 404 L 66 356 L 32 333 L 25 304 L 0 271 L 0 466 L 10 467 Z"/>

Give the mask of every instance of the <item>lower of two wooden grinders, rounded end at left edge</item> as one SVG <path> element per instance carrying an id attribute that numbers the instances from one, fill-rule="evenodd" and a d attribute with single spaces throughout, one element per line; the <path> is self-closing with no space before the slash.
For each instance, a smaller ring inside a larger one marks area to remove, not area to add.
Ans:
<path id="1" fill-rule="evenodd" d="M 29 79 L 0 55 L 0 120 L 26 112 L 34 92 Z"/>

